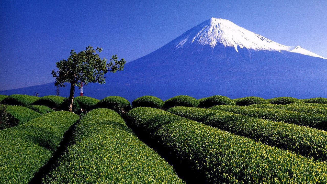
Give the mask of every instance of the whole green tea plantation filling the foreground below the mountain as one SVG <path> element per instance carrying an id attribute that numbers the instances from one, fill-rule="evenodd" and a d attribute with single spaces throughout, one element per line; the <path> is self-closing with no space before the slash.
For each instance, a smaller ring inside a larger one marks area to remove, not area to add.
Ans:
<path id="1" fill-rule="evenodd" d="M 74 100 L 0 95 L 0 183 L 327 184 L 325 98 Z"/>

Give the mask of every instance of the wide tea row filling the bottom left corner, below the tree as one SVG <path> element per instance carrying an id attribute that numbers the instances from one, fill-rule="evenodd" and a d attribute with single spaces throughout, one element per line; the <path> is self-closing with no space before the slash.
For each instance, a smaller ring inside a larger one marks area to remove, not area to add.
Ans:
<path id="1" fill-rule="evenodd" d="M 28 183 L 79 119 L 70 112 L 44 114 L 0 131 L 0 183 Z"/>

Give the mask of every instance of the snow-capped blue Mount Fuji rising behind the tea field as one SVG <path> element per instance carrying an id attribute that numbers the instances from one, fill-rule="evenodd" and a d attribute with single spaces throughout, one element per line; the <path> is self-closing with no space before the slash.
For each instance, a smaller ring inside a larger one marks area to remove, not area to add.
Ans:
<path id="1" fill-rule="evenodd" d="M 229 20 L 211 18 L 125 64 L 124 71 L 107 74 L 106 84 L 89 84 L 84 93 L 129 101 L 143 95 L 162 100 L 176 95 L 327 97 L 326 69 L 326 58 L 301 46 L 284 46 Z M 1 93 L 9 91 L 15 93 Z"/>

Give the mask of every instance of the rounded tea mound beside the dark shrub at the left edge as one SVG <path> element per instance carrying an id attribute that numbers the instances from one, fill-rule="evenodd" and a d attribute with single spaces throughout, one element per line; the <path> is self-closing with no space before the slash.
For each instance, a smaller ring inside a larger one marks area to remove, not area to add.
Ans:
<path id="1" fill-rule="evenodd" d="M 12 125 L 22 124 L 34 118 L 41 116 L 40 113 L 19 105 L 7 105 L 6 112 L 14 117 Z"/>

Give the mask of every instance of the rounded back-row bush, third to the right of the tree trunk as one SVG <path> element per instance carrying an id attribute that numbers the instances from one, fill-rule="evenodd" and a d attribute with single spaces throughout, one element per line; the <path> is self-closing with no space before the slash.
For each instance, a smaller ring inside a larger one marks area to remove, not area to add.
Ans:
<path id="1" fill-rule="evenodd" d="M 154 96 L 143 96 L 143 97 L 139 97 L 137 99 L 135 99 L 134 101 L 132 101 L 132 107 L 136 108 L 136 107 L 153 107 L 153 108 L 162 108 L 164 105 L 164 102 L 158 98 L 158 97 L 154 97 Z"/>

